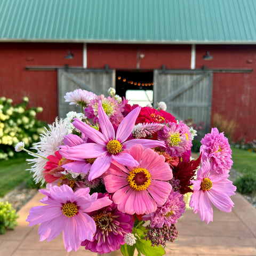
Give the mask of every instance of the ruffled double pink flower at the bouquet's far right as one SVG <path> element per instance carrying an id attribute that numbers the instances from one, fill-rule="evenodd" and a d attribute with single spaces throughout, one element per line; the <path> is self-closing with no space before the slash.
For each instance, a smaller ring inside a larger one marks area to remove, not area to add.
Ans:
<path id="1" fill-rule="evenodd" d="M 202 161 L 209 159 L 211 169 L 218 173 L 228 173 L 231 169 L 233 161 L 231 160 L 231 149 L 228 139 L 224 133 L 219 133 L 217 128 L 212 128 L 211 133 L 205 134 L 201 140 Z"/>

